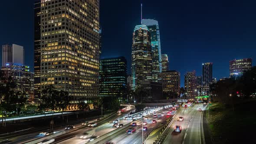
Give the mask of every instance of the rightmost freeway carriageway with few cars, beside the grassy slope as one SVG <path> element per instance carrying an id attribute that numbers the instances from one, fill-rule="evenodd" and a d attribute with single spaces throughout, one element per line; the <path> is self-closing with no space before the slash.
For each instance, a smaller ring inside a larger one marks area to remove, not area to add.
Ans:
<path id="1" fill-rule="evenodd" d="M 184 121 L 175 120 L 164 144 L 204 144 L 203 111 L 198 111 L 198 108 L 203 110 L 206 106 L 199 103 L 191 108 L 182 108 L 178 117 L 183 117 Z M 174 132 L 175 125 L 181 126 L 181 133 Z"/>

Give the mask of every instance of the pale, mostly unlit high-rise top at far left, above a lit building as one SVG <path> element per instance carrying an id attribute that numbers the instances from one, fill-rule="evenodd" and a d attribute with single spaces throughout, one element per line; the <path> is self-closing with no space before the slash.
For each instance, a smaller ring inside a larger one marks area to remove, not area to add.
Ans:
<path id="1" fill-rule="evenodd" d="M 24 49 L 23 46 L 13 44 L 12 46 L 2 46 L 2 66 L 6 63 L 24 64 Z"/>

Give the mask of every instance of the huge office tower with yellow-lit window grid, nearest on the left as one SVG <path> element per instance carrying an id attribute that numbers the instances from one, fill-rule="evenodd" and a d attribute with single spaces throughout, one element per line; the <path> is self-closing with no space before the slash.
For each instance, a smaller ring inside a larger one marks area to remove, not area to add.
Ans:
<path id="1" fill-rule="evenodd" d="M 48 85 L 74 103 L 97 98 L 99 0 L 41 1 L 41 89 Z"/>

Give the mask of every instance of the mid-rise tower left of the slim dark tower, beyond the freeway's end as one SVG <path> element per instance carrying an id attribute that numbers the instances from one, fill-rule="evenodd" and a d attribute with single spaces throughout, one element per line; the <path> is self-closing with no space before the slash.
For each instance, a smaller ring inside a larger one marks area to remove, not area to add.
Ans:
<path id="1" fill-rule="evenodd" d="M 197 96 L 197 77 L 195 71 L 185 74 L 184 86 L 188 97 Z"/>

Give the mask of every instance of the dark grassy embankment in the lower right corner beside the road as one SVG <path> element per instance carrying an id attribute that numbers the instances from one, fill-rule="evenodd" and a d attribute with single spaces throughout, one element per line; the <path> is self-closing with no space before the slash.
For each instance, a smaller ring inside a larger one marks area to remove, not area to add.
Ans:
<path id="1" fill-rule="evenodd" d="M 255 142 L 256 99 L 239 101 L 232 107 L 219 102 L 210 106 L 210 134 L 213 144 L 251 144 Z M 208 118 L 208 111 L 207 111 Z"/>

